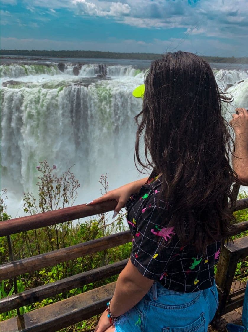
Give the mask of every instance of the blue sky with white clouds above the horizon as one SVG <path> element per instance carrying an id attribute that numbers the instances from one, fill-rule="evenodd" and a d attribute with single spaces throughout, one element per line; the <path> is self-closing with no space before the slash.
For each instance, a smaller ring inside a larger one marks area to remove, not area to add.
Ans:
<path id="1" fill-rule="evenodd" d="M 1 0 L 0 47 L 248 55 L 247 0 Z"/>

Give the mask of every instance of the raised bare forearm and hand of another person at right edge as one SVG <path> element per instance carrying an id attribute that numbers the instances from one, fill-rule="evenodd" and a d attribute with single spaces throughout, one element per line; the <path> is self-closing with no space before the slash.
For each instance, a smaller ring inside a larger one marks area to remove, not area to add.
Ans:
<path id="1" fill-rule="evenodd" d="M 235 151 L 232 154 L 232 168 L 242 185 L 248 186 L 248 111 L 237 108 L 229 122 L 235 132 Z"/>

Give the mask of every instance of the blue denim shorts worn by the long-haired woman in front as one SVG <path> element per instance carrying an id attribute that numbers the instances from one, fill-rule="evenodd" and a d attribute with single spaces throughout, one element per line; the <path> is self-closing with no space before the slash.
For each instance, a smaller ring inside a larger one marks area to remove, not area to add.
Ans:
<path id="1" fill-rule="evenodd" d="M 115 332 L 207 332 L 218 308 L 216 284 L 181 293 L 155 282 L 132 309 L 120 316 Z"/>

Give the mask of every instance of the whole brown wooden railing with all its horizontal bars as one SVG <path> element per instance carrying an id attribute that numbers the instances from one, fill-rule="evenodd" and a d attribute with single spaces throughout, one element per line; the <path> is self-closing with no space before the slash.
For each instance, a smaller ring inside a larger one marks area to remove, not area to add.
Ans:
<path id="1" fill-rule="evenodd" d="M 86 206 L 85 204 L 83 204 L 75 207 L 68 207 L 60 210 L 49 211 L 41 214 L 0 222 L 0 236 L 7 236 L 10 258 L 12 260 L 11 262 L 0 266 L 0 280 L 13 278 L 15 281 L 15 278 L 18 275 L 39 270 L 43 267 L 54 266 L 61 262 L 69 261 L 87 254 L 95 253 L 130 242 L 130 232 L 125 231 L 118 234 L 113 234 L 103 238 L 80 243 L 71 247 L 54 250 L 45 254 L 36 255 L 21 260 L 14 260 L 11 247 L 11 234 L 44 226 L 54 225 L 66 221 L 71 221 L 95 214 L 101 214 L 113 210 L 116 207 L 116 204 L 117 202 L 115 200 L 106 201 L 94 206 Z M 241 210 L 247 207 L 248 199 L 243 199 L 236 202 L 236 207 L 234 210 Z M 235 233 L 238 234 L 247 229 L 248 221 L 244 221 L 236 225 Z M 242 255 L 247 253 L 248 249 L 248 237 L 245 237 L 243 239 L 243 242 L 241 241 Z M 237 240 L 234 241 L 234 244 L 229 244 L 227 250 L 229 250 L 230 248 L 234 248 L 236 243 Z M 222 250 L 222 252 L 224 251 Z M 220 256 L 220 261 L 224 259 L 222 258 L 222 252 Z M 238 259 L 240 259 L 242 255 L 238 254 Z M 44 298 L 51 297 L 77 287 L 82 287 L 83 285 L 102 280 L 109 276 L 114 276 L 120 273 L 126 263 L 127 260 L 124 260 L 114 264 L 106 265 L 101 268 L 83 272 L 72 277 L 56 281 L 54 283 L 48 283 L 46 285 L 39 286 L 31 290 L 25 290 L 21 293 L 13 294 L 6 298 L 2 298 L 0 300 L 0 313 L 12 309 L 18 310 L 19 307 L 22 307 L 24 305 L 41 301 Z M 220 302 L 222 303 L 221 310 L 219 310 L 220 316 L 222 313 L 226 312 L 226 302 L 229 293 L 226 296 L 228 290 L 226 289 L 225 285 L 227 282 L 229 285 L 230 280 L 223 281 L 222 277 L 218 279 L 218 270 L 217 286 L 219 288 L 219 294 L 221 299 Z M 219 273 L 219 275 L 224 275 L 224 272 Z M 112 297 L 114 288 L 115 283 L 108 284 L 100 288 L 93 289 L 79 295 L 75 295 L 68 299 L 49 304 L 40 309 L 30 311 L 24 315 L 18 315 L 17 317 L 5 320 L 0 323 L 0 332 L 48 332 L 57 331 L 63 327 L 70 326 L 71 324 L 77 323 L 83 319 L 90 318 L 93 315 L 102 312 L 106 306 L 106 301 L 108 301 Z M 16 287 L 15 291 L 17 292 Z M 224 294 L 224 297 L 221 297 L 222 294 Z M 239 301 L 238 305 L 240 304 L 241 301 Z"/>

